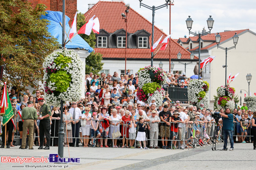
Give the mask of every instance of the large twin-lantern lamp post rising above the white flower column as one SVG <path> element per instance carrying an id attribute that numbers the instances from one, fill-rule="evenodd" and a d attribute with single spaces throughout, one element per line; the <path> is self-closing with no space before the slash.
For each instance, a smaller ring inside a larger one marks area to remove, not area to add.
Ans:
<path id="1" fill-rule="evenodd" d="M 189 30 L 189 34 L 191 33 L 192 35 L 198 37 L 198 42 L 199 42 L 199 45 L 198 45 L 198 47 L 199 47 L 199 51 L 198 51 L 198 62 L 199 62 L 199 65 L 198 65 L 198 80 L 200 79 L 201 37 L 204 36 L 204 35 L 207 35 L 207 34 L 211 34 L 211 29 L 212 29 L 212 26 L 213 26 L 213 23 L 214 23 L 214 20 L 213 20 L 211 17 L 212 17 L 212 16 L 210 15 L 210 18 L 207 19 L 207 25 L 208 25 L 208 29 L 209 29 L 210 31 L 204 32 L 204 33 L 202 33 L 202 34 L 201 34 L 201 33 L 196 34 L 196 33 L 194 33 L 194 32 L 191 32 L 190 30 L 191 30 L 191 28 L 192 28 L 192 24 L 193 24 L 194 21 L 190 18 L 190 16 L 189 16 L 189 18 L 186 20 L 186 24 L 187 24 L 187 28 L 188 28 L 188 30 Z"/>

